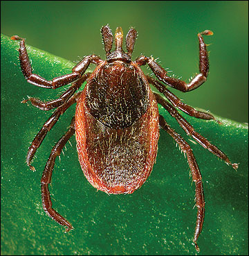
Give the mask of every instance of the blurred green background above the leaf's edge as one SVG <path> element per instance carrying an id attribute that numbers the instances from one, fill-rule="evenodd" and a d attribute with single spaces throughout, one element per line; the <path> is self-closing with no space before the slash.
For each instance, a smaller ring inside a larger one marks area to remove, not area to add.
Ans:
<path id="1" fill-rule="evenodd" d="M 198 72 L 196 34 L 210 44 L 210 76 L 185 103 L 221 117 L 248 122 L 248 1 L 1 1 L 1 33 L 71 61 L 95 53 L 104 58 L 100 28 L 124 34 L 133 26 L 141 53 L 159 58 L 169 74 L 188 80 Z M 148 69 L 144 69 L 151 73 Z"/>

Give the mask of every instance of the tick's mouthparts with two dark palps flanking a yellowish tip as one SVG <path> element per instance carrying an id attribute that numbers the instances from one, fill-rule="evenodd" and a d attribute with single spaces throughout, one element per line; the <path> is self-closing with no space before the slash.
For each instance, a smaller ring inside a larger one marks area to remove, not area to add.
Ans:
<path id="1" fill-rule="evenodd" d="M 113 46 L 113 34 L 111 33 L 111 28 L 109 28 L 109 26 L 103 26 L 101 28 L 101 33 L 104 41 L 104 50 L 106 51 L 108 62 L 111 62 L 113 60 L 131 62 L 131 54 L 133 52 L 137 36 L 137 32 L 134 28 L 131 28 L 129 30 L 125 39 L 127 52 L 124 52 L 124 50 L 122 49 L 122 40 L 124 34 L 120 26 L 116 28 L 114 51 L 111 51 Z"/>

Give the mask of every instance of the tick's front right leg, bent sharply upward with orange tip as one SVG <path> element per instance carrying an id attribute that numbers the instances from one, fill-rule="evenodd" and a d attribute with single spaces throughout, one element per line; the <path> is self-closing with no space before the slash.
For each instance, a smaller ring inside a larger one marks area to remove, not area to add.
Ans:
<path id="1" fill-rule="evenodd" d="M 196 89 L 200 85 L 202 85 L 208 77 L 208 51 L 206 49 L 205 43 L 203 41 L 203 37 L 201 35 L 212 35 L 212 31 L 203 31 L 198 34 L 199 38 L 199 74 L 194 76 L 190 83 L 185 83 L 183 80 L 179 80 L 177 78 L 172 78 L 167 76 L 167 71 L 160 67 L 158 63 L 154 60 L 154 58 L 147 58 L 146 56 L 140 56 L 135 60 L 138 65 L 148 64 L 151 70 L 154 72 L 156 77 L 163 81 L 163 83 L 178 89 L 182 92 L 189 92 L 192 89 Z"/>

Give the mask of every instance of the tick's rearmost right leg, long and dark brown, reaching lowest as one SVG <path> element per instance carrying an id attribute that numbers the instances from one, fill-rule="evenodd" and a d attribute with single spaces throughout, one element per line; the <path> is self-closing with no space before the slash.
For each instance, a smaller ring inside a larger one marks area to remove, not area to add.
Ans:
<path id="1" fill-rule="evenodd" d="M 191 169 L 192 179 L 195 183 L 195 191 L 196 191 L 196 207 L 197 207 L 197 218 L 196 218 L 196 228 L 194 231 L 194 245 L 196 250 L 199 252 L 199 246 L 197 245 L 197 239 L 201 234 L 201 230 L 203 228 L 204 214 L 205 214 L 205 200 L 204 200 L 204 192 L 203 192 L 203 182 L 201 178 L 201 172 L 199 170 L 198 164 L 192 152 L 192 148 L 187 144 L 185 139 L 181 137 L 178 133 L 175 132 L 165 121 L 163 116 L 159 116 L 159 124 L 163 130 L 166 130 L 170 136 L 176 141 L 176 143 L 180 146 L 183 153 L 187 155 L 187 162 Z"/>

